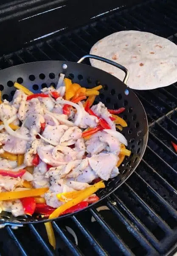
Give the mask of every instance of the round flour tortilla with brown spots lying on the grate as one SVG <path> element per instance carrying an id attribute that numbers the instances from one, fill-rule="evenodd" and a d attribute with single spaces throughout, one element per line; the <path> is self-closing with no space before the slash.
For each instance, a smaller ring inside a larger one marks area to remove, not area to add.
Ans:
<path id="1" fill-rule="evenodd" d="M 177 81 L 177 45 L 148 32 L 121 31 L 108 35 L 94 44 L 90 54 L 126 67 L 127 85 L 132 89 L 155 89 Z M 118 68 L 94 59 L 90 63 L 123 81 L 124 72 Z"/>

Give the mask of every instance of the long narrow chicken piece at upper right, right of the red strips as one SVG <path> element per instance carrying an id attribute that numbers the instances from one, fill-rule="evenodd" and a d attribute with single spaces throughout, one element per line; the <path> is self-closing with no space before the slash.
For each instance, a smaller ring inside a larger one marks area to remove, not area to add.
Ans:
<path id="1" fill-rule="evenodd" d="M 110 119 L 111 114 L 102 102 L 93 105 L 91 109 L 97 116 L 103 118 L 110 125 L 111 129 L 115 130 L 115 124 Z"/>

